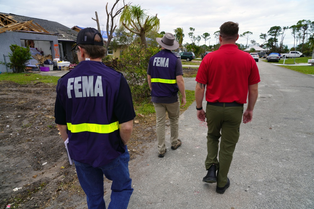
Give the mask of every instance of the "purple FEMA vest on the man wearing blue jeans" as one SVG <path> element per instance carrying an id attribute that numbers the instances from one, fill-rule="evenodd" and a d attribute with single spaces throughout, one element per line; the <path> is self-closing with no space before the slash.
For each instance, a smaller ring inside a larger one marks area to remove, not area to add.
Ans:
<path id="1" fill-rule="evenodd" d="M 125 152 L 113 109 L 121 76 L 101 62 L 82 61 L 59 79 L 72 159 L 100 167 Z"/>

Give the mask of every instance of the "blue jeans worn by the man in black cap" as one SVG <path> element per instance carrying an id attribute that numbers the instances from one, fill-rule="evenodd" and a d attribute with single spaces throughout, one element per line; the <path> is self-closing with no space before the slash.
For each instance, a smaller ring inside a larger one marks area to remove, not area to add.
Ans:
<path id="1" fill-rule="evenodd" d="M 133 192 L 128 169 L 129 160 L 130 155 L 127 150 L 111 163 L 98 168 L 74 160 L 78 180 L 86 194 L 89 209 L 106 209 L 104 175 L 112 180 L 108 209 L 127 208 Z"/>

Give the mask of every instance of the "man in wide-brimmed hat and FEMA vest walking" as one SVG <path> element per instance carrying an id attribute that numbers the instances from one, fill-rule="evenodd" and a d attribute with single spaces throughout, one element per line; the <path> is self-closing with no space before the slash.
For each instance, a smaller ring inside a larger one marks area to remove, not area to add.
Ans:
<path id="1" fill-rule="evenodd" d="M 147 79 L 151 90 L 152 102 L 156 111 L 156 133 L 158 142 L 158 157 L 164 157 L 167 151 L 165 146 L 165 117 L 166 111 L 170 120 L 171 149 L 181 145 L 178 139 L 180 102 L 178 91 L 182 95 L 182 105 L 186 104 L 183 80 L 182 63 L 171 50 L 176 50 L 179 43 L 171 33 L 164 37 L 156 38 L 161 46 L 161 51 L 149 59 Z"/>

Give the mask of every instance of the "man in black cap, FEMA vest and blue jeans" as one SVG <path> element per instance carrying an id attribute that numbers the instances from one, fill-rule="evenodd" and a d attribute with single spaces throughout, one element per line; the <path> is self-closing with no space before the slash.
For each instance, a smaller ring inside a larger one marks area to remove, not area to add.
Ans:
<path id="1" fill-rule="evenodd" d="M 112 180 L 108 208 L 127 208 L 133 192 L 126 146 L 135 117 L 131 91 L 121 73 L 101 62 L 106 49 L 96 29 L 81 30 L 74 49 L 79 64 L 58 81 L 55 122 L 68 139 L 88 208 L 106 208 L 104 175 Z"/>

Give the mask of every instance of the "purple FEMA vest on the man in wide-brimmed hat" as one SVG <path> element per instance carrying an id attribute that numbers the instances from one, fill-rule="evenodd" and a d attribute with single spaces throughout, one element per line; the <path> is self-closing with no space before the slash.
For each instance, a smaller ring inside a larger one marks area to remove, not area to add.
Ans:
<path id="1" fill-rule="evenodd" d="M 152 97 L 171 97 L 178 91 L 176 83 L 177 57 L 170 50 L 161 50 L 149 59 Z"/>

